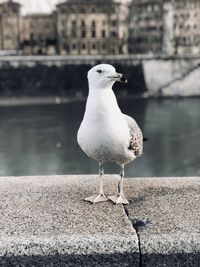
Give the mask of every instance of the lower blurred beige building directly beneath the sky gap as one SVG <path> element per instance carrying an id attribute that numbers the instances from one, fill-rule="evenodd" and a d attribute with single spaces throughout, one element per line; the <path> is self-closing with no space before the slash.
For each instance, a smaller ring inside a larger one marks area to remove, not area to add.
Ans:
<path id="1" fill-rule="evenodd" d="M 56 16 L 27 15 L 21 20 L 21 49 L 24 54 L 56 53 Z"/>

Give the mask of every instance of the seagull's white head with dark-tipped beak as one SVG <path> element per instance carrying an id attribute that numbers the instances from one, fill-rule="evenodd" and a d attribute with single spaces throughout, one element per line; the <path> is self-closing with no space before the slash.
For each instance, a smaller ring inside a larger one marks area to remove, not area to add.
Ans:
<path id="1" fill-rule="evenodd" d="M 113 84 L 118 82 L 126 83 L 126 78 L 117 73 L 115 68 L 109 64 L 99 64 L 94 66 L 88 72 L 88 81 L 90 88 L 111 88 Z"/>

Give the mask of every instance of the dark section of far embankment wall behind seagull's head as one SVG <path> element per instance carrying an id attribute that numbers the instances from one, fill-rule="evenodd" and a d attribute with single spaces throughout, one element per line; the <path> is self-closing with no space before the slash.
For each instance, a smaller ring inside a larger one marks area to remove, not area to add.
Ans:
<path id="1" fill-rule="evenodd" d="M 87 72 L 91 65 L 51 65 L 36 63 L 14 67 L 6 62 L 0 67 L 1 96 L 74 96 L 87 95 Z M 116 84 L 118 94 L 142 94 L 145 82 L 142 65 L 115 65 L 128 79 Z M 123 90 L 120 90 L 123 89 Z"/>

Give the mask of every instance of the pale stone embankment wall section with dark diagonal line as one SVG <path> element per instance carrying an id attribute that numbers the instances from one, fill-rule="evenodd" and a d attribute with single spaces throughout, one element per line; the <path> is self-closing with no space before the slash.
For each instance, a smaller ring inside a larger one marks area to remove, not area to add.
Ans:
<path id="1" fill-rule="evenodd" d="M 200 59 L 143 61 L 150 96 L 200 96 Z"/>

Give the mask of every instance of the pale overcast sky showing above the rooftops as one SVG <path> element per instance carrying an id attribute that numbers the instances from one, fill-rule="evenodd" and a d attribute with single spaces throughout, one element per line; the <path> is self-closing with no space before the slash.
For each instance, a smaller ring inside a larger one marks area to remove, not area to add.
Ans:
<path id="1" fill-rule="evenodd" d="M 13 0 L 22 5 L 22 13 L 49 13 L 55 5 L 59 2 L 65 2 L 65 0 Z M 127 1 L 127 0 L 122 0 Z M 0 2 L 6 2 L 6 0 L 0 0 Z"/>

